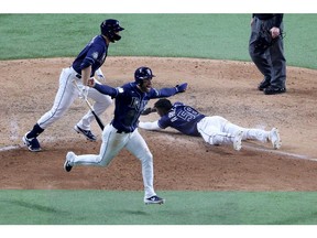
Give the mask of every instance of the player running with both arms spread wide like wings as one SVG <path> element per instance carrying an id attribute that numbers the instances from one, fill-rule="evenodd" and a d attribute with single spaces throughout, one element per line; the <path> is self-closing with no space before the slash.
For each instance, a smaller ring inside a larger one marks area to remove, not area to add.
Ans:
<path id="1" fill-rule="evenodd" d="M 94 79 L 89 80 L 90 87 L 116 98 L 114 117 L 103 129 L 99 154 L 76 155 L 69 151 L 64 163 L 64 169 L 67 172 L 75 165 L 107 166 L 125 148 L 141 161 L 144 203 L 163 204 L 165 202 L 154 192 L 153 155 L 138 131 L 138 121 L 150 99 L 170 97 L 177 93 L 183 93 L 186 90 L 187 84 L 158 90 L 152 88 L 153 77 L 151 68 L 140 67 L 134 73 L 134 82 L 128 83 L 122 87 L 112 88 L 107 85 L 96 84 Z"/>

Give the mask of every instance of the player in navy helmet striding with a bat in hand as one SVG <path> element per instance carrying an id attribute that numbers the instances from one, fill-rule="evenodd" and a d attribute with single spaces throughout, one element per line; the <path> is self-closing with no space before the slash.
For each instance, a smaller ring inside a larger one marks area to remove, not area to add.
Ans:
<path id="1" fill-rule="evenodd" d="M 47 127 L 65 115 L 78 95 L 84 99 L 89 97 L 95 100 L 94 110 L 98 116 L 111 105 L 112 99 L 109 96 L 100 94 L 95 88 L 88 87 L 87 83 L 95 74 L 98 75 L 99 79 L 105 79 L 100 66 L 106 61 L 109 44 L 121 39 L 119 32 L 122 30 L 124 29 L 120 26 L 119 21 L 114 19 L 105 20 L 100 24 L 101 34 L 96 35 L 84 47 L 70 67 L 63 68 L 59 76 L 58 91 L 55 96 L 52 109 L 44 113 L 34 125 L 33 129 L 26 132 L 22 138 L 30 151 L 41 151 L 37 137 Z M 74 80 L 79 85 L 80 91 L 74 86 Z M 94 118 L 94 115 L 89 110 L 89 112 L 74 127 L 78 133 L 84 134 L 90 141 L 96 141 L 95 134 L 90 131 L 90 122 Z"/>

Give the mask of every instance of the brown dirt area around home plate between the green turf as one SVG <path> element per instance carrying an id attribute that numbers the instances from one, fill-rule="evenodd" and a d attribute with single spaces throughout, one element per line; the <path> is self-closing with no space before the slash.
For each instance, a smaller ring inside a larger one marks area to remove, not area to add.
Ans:
<path id="1" fill-rule="evenodd" d="M 92 131 L 98 134 L 97 142 L 88 142 L 73 130 L 88 110 L 80 99 L 39 137 L 42 152 L 32 153 L 23 147 L 21 138 L 51 109 L 59 73 L 72 60 L 0 62 L 0 188 L 143 191 L 141 164 L 125 150 L 108 167 L 78 166 L 64 172 L 67 151 L 97 153 L 100 147 L 101 131 L 96 122 Z M 283 141 L 278 151 L 272 150 L 270 143 L 244 142 L 238 152 L 170 129 L 140 129 L 154 155 L 156 191 L 317 191 L 316 71 L 287 67 L 287 93 L 275 96 L 256 90 L 261 75 L 251 63 L 109 57 L 102 71 L 107 84 L 121 86 L 133 80 L 134 69 L 143 65 L 156 75 L 154 87 L 188 82 L 188 90 L 172 97 L 172 101 L 184 101 L 242 127 L 277 127 Z M 112 111 L 113 107 L 102 115 L 105 123 Z M 157 115 L 141 120 L 149 118 L 154 120 Z"/>

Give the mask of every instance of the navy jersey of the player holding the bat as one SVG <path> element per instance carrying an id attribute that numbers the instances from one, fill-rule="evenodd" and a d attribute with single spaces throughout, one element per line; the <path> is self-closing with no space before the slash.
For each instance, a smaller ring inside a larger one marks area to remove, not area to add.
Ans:
<path id="1" fill-rule="evenodd" d="M 108 46 L 102 35 L 96 35 L 79 53 L 73 63 L 73 68 L 81 74 L 81 69 L 91 65 L 91 75 L 105 63 L 108 53 Z"/>

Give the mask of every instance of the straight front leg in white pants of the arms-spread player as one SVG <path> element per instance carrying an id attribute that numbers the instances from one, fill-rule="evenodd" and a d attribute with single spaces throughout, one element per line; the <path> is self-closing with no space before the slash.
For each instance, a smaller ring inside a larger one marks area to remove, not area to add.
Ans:
<path id="1" fill-rule="evenodd" d="M 134 156 L 136 156 L 142 164 L 142 176 L 144 184 L 144 196 L 152 197 L 155 196 L 153 180 L 153 155 L 142 138 L 139 133 L 138 129 L 132 133 L 129 142 L 125 145 L 127 150 L 129 150 Z"/>

